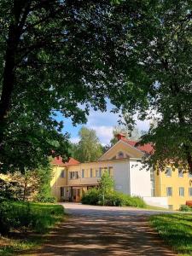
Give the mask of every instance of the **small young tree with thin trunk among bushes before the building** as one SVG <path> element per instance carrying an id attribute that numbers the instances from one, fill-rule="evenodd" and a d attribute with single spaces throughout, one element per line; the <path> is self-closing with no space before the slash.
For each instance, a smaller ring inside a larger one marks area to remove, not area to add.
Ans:
<path id="1" fill-rule="evenodd" d="M 102 193 L 102 205 L 105 205 L 105 196 L 113 190 L 114 180 L 108 172 L 102 174 L 102 178 L 98 181 L 99 190 Z"/>

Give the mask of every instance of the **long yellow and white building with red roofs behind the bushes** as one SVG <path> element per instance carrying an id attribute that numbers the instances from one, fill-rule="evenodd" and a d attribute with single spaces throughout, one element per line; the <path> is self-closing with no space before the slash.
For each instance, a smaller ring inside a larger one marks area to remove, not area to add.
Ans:
<path id="1" fill-rule="evenodd" d="M 63 163 L 61 157 L 52 162 L 52 194 L 58 201 L 80 201 L 84 191 L 98 185 L 103 172 L 114 179 L 114 189 L 127 195 L 143 197 L 149 205 L 179 209 L 192 201 L 192 175 L 168 166 L 166 172 L 148 171 L 143 167 L 144 154 L 153 153 L 150 144 L 136 142 L 119 134 L 118 142 L 95 162 L 79 163 L 72 158 Z"/>

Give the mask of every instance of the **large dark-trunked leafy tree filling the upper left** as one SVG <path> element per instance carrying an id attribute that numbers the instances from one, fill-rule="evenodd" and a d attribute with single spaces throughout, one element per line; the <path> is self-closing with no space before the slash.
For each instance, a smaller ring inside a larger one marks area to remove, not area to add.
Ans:
<path id="1" fill-rule="evenodd" d="M 67 160 L 57 112 L 77 124 L 90 105 L 104 111 L 106 97 L 124 104 L 125 20 L 141 9 L 135 1 L 129 9 L 113 0 L 1 1 L 1 172 L 46 166 L 49 155 Z"/>

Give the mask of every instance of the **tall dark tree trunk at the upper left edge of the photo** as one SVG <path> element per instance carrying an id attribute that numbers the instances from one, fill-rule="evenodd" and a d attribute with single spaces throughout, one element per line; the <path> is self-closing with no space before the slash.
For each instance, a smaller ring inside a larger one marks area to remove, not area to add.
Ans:
<path id="1" fill-rule="evenodd" d="M 26 20 L 26 9 L 22 9 L 26 3 L 15 0 L 12 9 L 12 21 L 9 26 L 9 35 L 7 40 L 7 49 L 5 54 L 5 67 L 3 71 L 3 89 L 0 98 L 0 146 L 3 142 L 3 134 L 7 125 L 7 117 L 11 105 L 11 96 L 15 87 L 15 59 L 20 42 L 20 35 L 24 22 Z M 29 7 L 29 5 L 27 6 Z"/>

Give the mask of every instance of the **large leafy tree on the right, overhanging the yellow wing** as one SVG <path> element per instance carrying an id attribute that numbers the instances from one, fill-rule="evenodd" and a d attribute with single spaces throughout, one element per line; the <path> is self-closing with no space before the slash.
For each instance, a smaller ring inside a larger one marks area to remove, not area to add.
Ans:
<path id="1" fill-rule="evenodd" d="M 142 143 L 153 143 L 148 164 L 161 170 L 173 160 L 192 172 L 191 7 L 191 1 L 154 1 L 131 27 L 130 58 L 137 56 L 137 79 L 143 84 L 130 83 L 127 124 L 136 112 L 140 119 L 155 116 L 156 127 Z"/>

